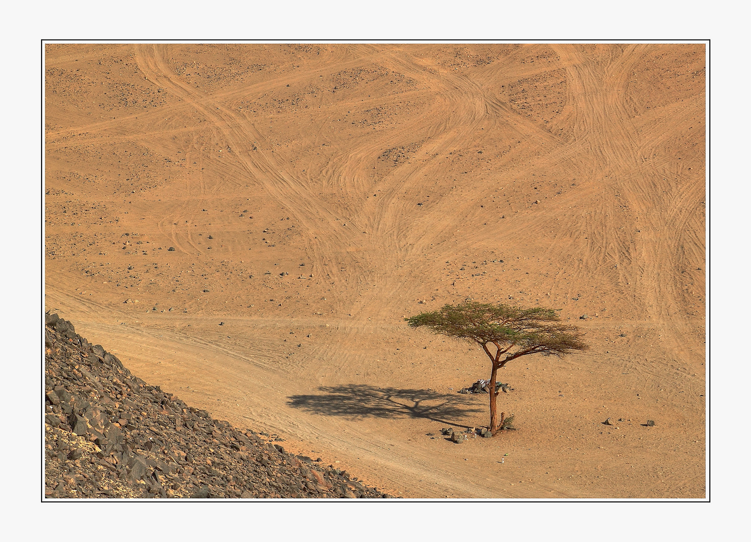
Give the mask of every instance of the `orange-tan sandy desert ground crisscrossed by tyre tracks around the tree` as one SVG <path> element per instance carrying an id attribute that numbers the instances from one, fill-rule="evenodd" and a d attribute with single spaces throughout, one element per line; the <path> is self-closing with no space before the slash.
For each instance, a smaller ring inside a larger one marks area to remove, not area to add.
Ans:
<path id="1" fill-rule="evenodd" d="M 134 374 L 404 497 L 704 498 L 704 45 L 46 47 L 47 308 Z M 452 444 L 466 298 L 591 350 Z"/>

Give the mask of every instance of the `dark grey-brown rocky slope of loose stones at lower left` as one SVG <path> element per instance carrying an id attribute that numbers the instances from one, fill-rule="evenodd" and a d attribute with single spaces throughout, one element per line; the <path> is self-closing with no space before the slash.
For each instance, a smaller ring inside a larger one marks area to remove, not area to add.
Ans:
<path id="1" fill-rule="evenodd" d="M 45 315 L 46 498 L 391 498 L 134 377 Z"/>

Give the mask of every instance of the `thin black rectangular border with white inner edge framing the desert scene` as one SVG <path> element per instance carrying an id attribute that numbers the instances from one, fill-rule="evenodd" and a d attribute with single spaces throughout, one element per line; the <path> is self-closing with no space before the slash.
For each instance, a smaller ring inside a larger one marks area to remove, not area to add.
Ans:
<path id="1" fill-rule="evenodd" d="M 242 40 L 174 40 L 171 38 L 159 38 L 155 40 L 141 40 L 141 39 L 128 39 L 128 40 L 119 40 L 119 39 L 103 39 L 103 38 L 95 38 L 92 40 L 89 39 L 82 39 L 82 38 L 76 38 L 72 40 L 58 40 L 58 39 L 47 39 L 47 38 L 41 38 L 40 45 L 41 45 L 41 92 L 40 92 L 40 106 L 41 106 L 41 153 L 40 153 L 40 169 L 41 169 L 41 190 L 40 190 L 40 198 L 41 198 L 41 218 L 42 218 L 42 228 L 41 228 L 41 270 L 42 270 L 42 277 L 41 277 L 41 305 L 42 305 L 42 332 L 41 332 L 41 347 L 42 347 L 42 356 L 41 356 L 41 415 L 42 415 L 42 424 L 41 424 L 41 503 L 65 503 L 65 502 L 84 502 L 84 503 L 93 503 L 93 502 L 158 502 L 158 501 L 164 501 L 164 502 L 213 502 L 213 503 L 232 503 L 232 502 L 279 502 L 279 503 L 289 503 L 289 502 L 304 502 L 304 503 L 315 503 L 315 502 L 346 502 L 346 499 L 336 499 L 336 498 L 322 498 L 322 499 L 316 499 L 316 498 L 310 498 L 310 499 L 288 499 L 288 498 L 259 498 L 259 499 L 217 499 L 216 501 L 212 499 L 207 500 L 197 500 L 197 499 L 149 499 L 149 498 L 143 498 L 143 499 L 116 499 L 116 498 L 77 498 L 77 499 L 48 499 L 46 495 L 44 495 L 45 491 L 45 470 L 44 470 L 44 440 L 45 440 L 45 432 L 44 432 L 44 415 L 45 415 L 45 403 L 44 403 L 44 364 L 45 364 L 45 350 L 46 347 L 44 346 L 44 331 L 46 329 L 46 326 L 44 325 L 44 313 L 45 313 L 45 302 L 46 302 L 46 265 L 45 265 L 45 238 L 46 238 L 46 226 L 45 226 L 45 198 L 44 198 L 44 186 L 45 186 L 45 174 L 46 171 L 44 169 L 45 165 L 45 149 L 46 149 L 46 135 L 44 132 L 44 126 L 45 126 L 45 120 L 46 120 L 46 104 L 44 101 L 45 98 L 45 68 L 46 68 L 46 56 L 44 51 L 44 46 L 48 43 L 55 44 L 55 43 L 65 43 L 65 44 L 87 44 L 87 43 L 107 43 L 107 44 L 116 44 L 119 43 L 143 43 L 143 42 L 170 42 L 170 43 L 238 43 L 238 44 L 264 44 L 264 43 L 272 43 L 272 44 L 285 44 L 285 43 L 321 43 L 321 44 L 350 44 L 350 43 L 378 43 L 378 44 L 391 44 L 391 43 L 404 43 L 404 42 L 415 42 L 415 43 L 424 43 L 424 44 L 478 44 L 478 43 L 487 43 L 487 44 L 514 44 L 514 43 L 520 43 L 529 42 L 529 44 L 550 44 L 550 43 L 562 43 L 562 44 L 581 44 L 581 43 L 619 43 L 619 42 L 629 42 L 629 43 L 644 43 L 644 44 L 701 44 L 704 43 L 706 49 L 704 50 L 704 65 L 705 65 L 705 77 L 706 77 L 706 83 L 705 83 L 705 92 L 704 92 L 704 189 L 705 189 L 705 195 L 704 195 L 704 242 L 705 242 L 705 248 L 704 248 L 704 340 L 705 340 L 705 350 L 704 350 L 704 398 L 705 398 L 705 407 L 704 407 L 704 424 L 705 424 L 705 431 L 704 431 L 704 498 L 655 498 L 655 499 L 648 499 L 648 498 L 641 498 L 641 499 L 612 499 L 612 498 L 605 498 L 605 499 L 598 499 L 598 498 L 562 498 L 562 499 L 496 499 L 496 498 L 467 498 L 467 499 L 451 499 L 451 498 L 394 498 L 394 499 L 356 499 L 354 502 L 357 501 L 365 501 L 365 502 L 436 502 L 436 503 L 475 503 L 475 502 L 513 502 L 513 503 L 526 503 L 526 502 L 551 502 L 551 503 L 572 503 L 572 504 L 578 504 L 578 503 L 588 503 L 588 502 L 603 502 L 603 503 L 655 503 L 655 502 L 667 502 L 667 503 L 710 503 L 711 502 L 711 496 L 710 496 L 710 480 L 711 480 L 711 462 L 710 462 L 710 440 L 711 440 L 711 422 L 710 422 L 710 405 L 711 405 L 711 394 L 710 394 L 710 381 L 711 381 L 711 367 L 710 367 L 710 357 L 711 357 L 711 346 L 710 341 L 708 340 L 710 336 L 710 318 L 711 318 L 711 310 L 710 310 L 710 289 L 711 289 L 711 282 L 709 280 L 710 276 L 710 254 L 711 254 L 711 235 L 710 235 L 710 216 L 711 216 L 711 206 L 708 207 L 707 211 L 707 199 L 711 201 L 711 67 L 708 70 L 709 77 L 707 77 L 706 73 L 706 66 L 707 64 L 710 64 L 711 60 L 711 38 L 707 39 L 613 39 L 608 38 L 605 40 L 599 40 L 599 39 L 586 39 L 586 40 L 486 40 L 486 39 L 479 39 L 479 40 L 460 40 L 460 39 L 450 39 L 450 40 L 430 40 L 430 39 L 417 39 L 417 38 L 410 38 L 410 39 L 404 39 L 404 40 L 363 40 L 363 39 L 357 39 L 357 40 L 249 40 L 249 39 L 242 39 Z M 707 124 L 708 123 L 708 124 Z M 707 198 L 708 196 L 708 198 Z M 707 214 L 708 212 L 708 214 Z M 709 217 L 709 218 L 708 218 Z"/>

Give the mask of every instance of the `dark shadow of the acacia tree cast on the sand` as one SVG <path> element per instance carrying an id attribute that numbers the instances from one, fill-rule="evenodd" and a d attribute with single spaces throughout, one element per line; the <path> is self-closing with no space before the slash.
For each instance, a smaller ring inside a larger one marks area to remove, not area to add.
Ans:
<path id="1" fill-rule="evenodd" d="M 318 395 L 291 395 L 288 404 L 315 414 L 362 418 L 425 418 L 448 425 L 469 427 L 450 419 L 463 419 L 482 409 L 466 404 L 466 395 L 426 389 L 376 388 L 363 384 L 322 386 Z"/>

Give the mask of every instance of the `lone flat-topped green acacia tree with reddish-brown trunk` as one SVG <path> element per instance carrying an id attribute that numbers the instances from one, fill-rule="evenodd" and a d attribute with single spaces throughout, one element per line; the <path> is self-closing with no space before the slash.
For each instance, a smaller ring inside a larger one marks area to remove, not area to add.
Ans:
<path id="1" fill-rule="evenodd" d="M 492 362 L 490 371 L 490 432 L 496 435 L 503 422 L 496 416 L 496 375 L 512 359 L 530 354 L 566 356 L 587 350 L 577 326 L 560 322 L 559 309 L 511 307 L 466 301 L 444 305 L 440 310 L 405 318 L 409 326 L 426 326 L 431 332 L 479 344 Z M 490 347 L 489 345 L 493 345 Z M 493 350 L 495 352 L 493 352 Z"/>

